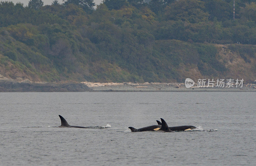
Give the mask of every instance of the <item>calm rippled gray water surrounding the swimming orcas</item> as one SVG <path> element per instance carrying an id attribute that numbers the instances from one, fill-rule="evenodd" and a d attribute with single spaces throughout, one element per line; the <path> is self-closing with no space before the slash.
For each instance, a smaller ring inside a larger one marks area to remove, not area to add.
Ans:
<path id="1" fill-rule="evenodd" d="M 0 107 L 0 165 L 256 163 L 254 92 L 0 93 Z M 99 128 L 58 128 L 58 115 Z M 160 118 L 198 129 L 128 129 Z"/>

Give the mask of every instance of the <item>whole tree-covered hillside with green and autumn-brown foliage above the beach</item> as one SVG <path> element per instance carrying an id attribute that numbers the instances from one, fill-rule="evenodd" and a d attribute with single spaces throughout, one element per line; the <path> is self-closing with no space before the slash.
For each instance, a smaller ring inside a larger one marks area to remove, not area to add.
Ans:
<path id="1" fill-rule="evenodd" d="M 256 0 L 0 3 L 0 74 L 32 81 L 256 79 Z"/>

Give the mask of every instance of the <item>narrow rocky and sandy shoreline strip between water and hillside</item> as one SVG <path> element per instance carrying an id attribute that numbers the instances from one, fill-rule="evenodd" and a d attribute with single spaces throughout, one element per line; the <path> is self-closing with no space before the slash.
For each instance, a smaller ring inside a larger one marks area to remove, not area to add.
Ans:
<path id="1" fill-rule="evenodd" d="M 92 83 L 92 82 L 32 82 L 0 77 L 0 92 L 256 92 L 256 84 L 243 87 L 195 87 L 184 83 Z"/>

